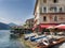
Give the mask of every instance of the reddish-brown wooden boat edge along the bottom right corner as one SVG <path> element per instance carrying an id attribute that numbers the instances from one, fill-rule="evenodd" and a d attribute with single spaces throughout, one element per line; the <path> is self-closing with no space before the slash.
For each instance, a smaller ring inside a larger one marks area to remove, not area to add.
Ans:
<path id="1" fill-rule="evenodd" d="M 65 38 L 58 38 L 55 41 L 56 43 L 51 42 L 50 45 L 38 45 L 37 48 L 51 48 L 53 46 L 60 45 L 65 42 Z"/>

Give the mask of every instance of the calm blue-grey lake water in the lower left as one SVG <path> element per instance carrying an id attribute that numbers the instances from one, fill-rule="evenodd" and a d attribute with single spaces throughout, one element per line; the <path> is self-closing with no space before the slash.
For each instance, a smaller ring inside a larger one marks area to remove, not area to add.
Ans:
<path id="1" fill-rule="evenodd" d="M 0 30 L 0 48 L 24 48 L 16 38 L 10 37 L 10 30 Z"/>

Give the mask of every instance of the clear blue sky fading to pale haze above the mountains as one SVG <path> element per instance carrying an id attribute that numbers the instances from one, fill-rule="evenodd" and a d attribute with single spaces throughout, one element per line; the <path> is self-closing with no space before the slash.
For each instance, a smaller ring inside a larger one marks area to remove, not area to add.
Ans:
<path id="1" fill-rule="evenodd" d="M 25 23 L 34 17 L 35 0 L 0 0 L 0 22 Z"/>

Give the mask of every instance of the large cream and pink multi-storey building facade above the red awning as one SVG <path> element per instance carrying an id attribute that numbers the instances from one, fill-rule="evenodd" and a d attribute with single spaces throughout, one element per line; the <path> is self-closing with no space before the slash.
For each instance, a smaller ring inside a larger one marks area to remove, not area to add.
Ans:
<path id="1" fill-rule="evenodd" d="M 65 0 L 36 0 L 34 15 L 34 27 L 65 23 Z"/>

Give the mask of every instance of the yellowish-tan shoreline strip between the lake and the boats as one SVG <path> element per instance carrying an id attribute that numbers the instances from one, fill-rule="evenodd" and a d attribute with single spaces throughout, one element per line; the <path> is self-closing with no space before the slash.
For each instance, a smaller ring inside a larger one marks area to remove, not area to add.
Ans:
<path id="1" fill-rule="evenodd" d="M 37 44 L 30 41 L 25 41 L 24 36 L 22 36 L 21 38 L 18 38 L 18 41 L 24 44 L 25 48 L 36 48 Z"/>

